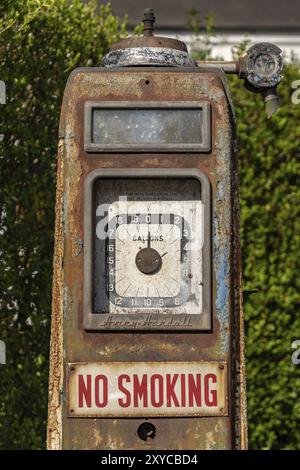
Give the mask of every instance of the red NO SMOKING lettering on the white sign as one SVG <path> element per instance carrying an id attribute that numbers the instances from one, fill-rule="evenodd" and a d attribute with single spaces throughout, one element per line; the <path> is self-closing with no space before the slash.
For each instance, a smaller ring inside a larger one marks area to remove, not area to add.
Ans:
<path id="1" fill-rule="evenodd" d="M 201 408 L 218 406 L 215 373 L 78 374 L 78 408 Z M 109 388 L 110 387 L 110 388 Z"/>

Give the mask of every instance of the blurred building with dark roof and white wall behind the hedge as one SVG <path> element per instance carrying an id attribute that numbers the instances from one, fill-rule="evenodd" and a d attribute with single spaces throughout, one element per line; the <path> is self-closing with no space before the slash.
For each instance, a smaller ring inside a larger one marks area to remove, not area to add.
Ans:
<path id="1" fill-rule="evenodd" d="M 151 4 L 157 18 L 157 35 L 178 37 L 188 46 L 195 44 L 197 21 L 215 26 L 212 55 L 230 60 L 232 48 L 251 42 L 274 42 L 290 57 L 300 53 L 300 7 L 298 0 L 112 0 L 116 15 L 128 15 L 129 26 L 140 22 L 141 11 Z M 98 3 L 104 3 L 98 1 Z M 105 2 L 106 3 L 106 2 Z M 199 24 L 198 24 L 199 26 Z"/>

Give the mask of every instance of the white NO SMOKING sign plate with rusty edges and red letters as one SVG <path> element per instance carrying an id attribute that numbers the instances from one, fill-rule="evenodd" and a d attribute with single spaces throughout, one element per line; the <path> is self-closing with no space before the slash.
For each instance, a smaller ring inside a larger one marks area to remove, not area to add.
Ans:
<path id="1" fill-rule="evenodd" d="M 69 417 L 227 416 L 225 362 L 67 365 Z"/>

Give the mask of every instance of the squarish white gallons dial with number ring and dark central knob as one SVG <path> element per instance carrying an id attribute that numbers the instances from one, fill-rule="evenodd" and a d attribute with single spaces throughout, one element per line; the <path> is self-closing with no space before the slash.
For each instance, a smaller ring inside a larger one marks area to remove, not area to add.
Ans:
<path id="1" fill-rule="evenodd" d="M 199 288 L 201 282 L 193 273 L 188 219 L 195 207 L 190 204 L 176 207 L 172 202 L 148 201 L 128 203 L 127 207 L 112 205 L 106 238 L 106 290 L 111 312 L 182 310 L 189 302 L 195 303 L 195 283 Z"/>

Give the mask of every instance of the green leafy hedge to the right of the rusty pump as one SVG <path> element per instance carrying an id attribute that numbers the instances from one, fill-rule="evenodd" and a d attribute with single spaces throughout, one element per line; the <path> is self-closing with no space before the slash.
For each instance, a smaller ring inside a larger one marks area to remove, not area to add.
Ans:
<path id="1" fill-rule="evenodd" d="M 250 445 L 300 449 L 300 104 L 292 103 L 299 64 L 285 67 L 281 107 L 266 119 L 263 100 L 231 80 L 238 123 L 241 241 Z"/>

